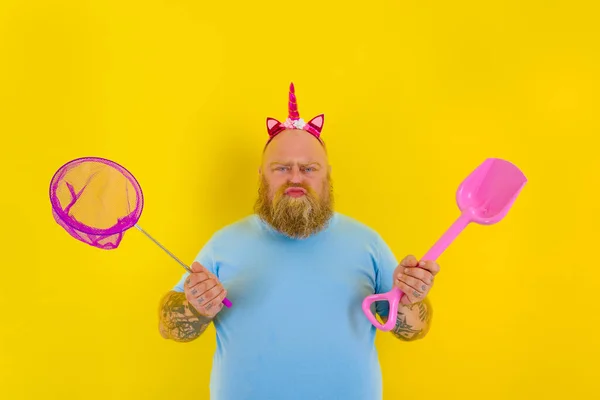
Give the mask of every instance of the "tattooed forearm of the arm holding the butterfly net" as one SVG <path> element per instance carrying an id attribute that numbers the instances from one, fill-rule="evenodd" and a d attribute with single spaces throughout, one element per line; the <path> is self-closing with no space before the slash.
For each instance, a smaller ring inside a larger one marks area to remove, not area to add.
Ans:
<path id="1" fill-rule="evenodd" d="M 199 337 L 212 319 L 192 307 L 185 293 L 171 291 L 163 297 L 159 308 L 159 330 L 162 337 L 176 342 L 190 342 Z"/>

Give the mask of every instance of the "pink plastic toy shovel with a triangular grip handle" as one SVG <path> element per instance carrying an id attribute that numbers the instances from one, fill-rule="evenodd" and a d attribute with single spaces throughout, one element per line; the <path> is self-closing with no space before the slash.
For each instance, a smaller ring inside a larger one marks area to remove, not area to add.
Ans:
<path id="1" fill-rule="evenodd" d="M 437 260 L 470 222 L 482 225 L 499 222 L 508 213 L 526 182 L 525 175 L 510 162 L 498 158 L 485 160 L 458 187 L 456 202 L 460 216 L 422 259 Z M 363 312 L 376 328 L 390 331 L 396 325 L 396 318 L 388 318 L 385 325 L 379 323 L 371 313 L 371 304 L 388 301 L 389 315 L 395 316 L 402 295 L 402 291 L 394 287 L 388 293 L 368 296 L 362 303 Z"/>

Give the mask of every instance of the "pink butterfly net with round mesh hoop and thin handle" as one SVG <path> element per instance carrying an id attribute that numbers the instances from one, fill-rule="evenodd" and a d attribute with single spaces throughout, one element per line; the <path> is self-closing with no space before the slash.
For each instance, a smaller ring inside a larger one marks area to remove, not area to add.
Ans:
<path id="1" fill-rule="evenodd" d="M 75 239 L 103 250 L 119 247 L 124 232 L 136 227 L 188 272 L 190 268 L 138 224 L 142 189 L 124 167 L 104 158 L 78 158 L 64 164 L 50 182 L 56 222 Z M 228 299 L 223 304 L 231 307 Z"/>

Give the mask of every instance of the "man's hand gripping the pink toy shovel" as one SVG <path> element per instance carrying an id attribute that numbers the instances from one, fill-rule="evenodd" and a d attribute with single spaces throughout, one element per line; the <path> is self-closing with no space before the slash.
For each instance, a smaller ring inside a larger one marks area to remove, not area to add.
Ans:
<path id="1" fill-rule="evenodd" d="M 412 255 L 406 256 L 394 271 L 394 286 L 404 292 L 400 303 L 408 305 L 423 301 L 438 272 L 440 266 L 435 262 L 419 262 Z"/>

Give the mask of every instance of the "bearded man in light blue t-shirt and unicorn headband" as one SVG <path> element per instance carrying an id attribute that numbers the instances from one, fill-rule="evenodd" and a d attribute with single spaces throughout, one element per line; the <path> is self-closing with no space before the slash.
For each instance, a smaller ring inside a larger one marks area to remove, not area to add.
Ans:
<path id="1" fill-rule="evenodd" d="M 162 300 L 160 332 L 189 342 L 214 324 L 213 400 L 381 399 L 376 329 L 362 300 L 398 286 L 392 334 L 422 338 L 439 266 L 413 256 L 398 264 L 375 231 L 333 210 L 323 115 L 304 123 L 293 84 L 289 96 L 285 123 L 267 119 L 255 213 L 202 248 Z M 389 305 L 376 309 L 386 321 Z"/>

